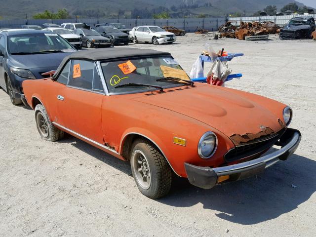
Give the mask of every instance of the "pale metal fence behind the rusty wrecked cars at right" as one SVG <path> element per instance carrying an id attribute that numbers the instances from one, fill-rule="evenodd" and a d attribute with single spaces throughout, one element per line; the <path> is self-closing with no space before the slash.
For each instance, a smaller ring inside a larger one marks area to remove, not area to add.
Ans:
<path id="1" fill-rule="evenodd" d="M 297 15 L 292 14 L 288 16 L 251 16 L 251 17 L 230 17 L 230 21 L 244 21 L 244 22 L 251 22 L 251 21 L 273 21 L 276 23 L 276 25 L 282 26 L 285 25 L 291 18 L 293 17 L 299 17 L 299 16 L 313 16 L 316 17 L 316 14 L 314 15 Z"/>

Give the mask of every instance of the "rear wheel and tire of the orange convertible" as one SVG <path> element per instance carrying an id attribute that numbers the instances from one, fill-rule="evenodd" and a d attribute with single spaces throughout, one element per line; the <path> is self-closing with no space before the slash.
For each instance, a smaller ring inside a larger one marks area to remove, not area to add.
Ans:
<path id="1" fill-rule="evenodd" d="M 64 131 L 52 124 L 48 118 L 45 107 L 41 104 L 35 107 L 35 121 L 41 138 L 55 142 L 64 137 Z"/>

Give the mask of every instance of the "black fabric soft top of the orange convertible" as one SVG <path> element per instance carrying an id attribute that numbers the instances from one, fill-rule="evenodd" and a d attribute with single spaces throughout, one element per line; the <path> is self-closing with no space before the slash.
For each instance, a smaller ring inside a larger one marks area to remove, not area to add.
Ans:
<path id="1" fill-rule="evenodd" d="M 103 61 L 103 60 L 115 60 L 120 58 L 134 58 L 141 56 L 159 56 L 159 55 L 170 55 L 168 52 L 161 52 L 152 49 L 139 49 L 139 48 L 103 48 L 103 49 L 86 49 L 80 50 L 71 55 L 68 55 L 60 63 L 54 78 L 59 75 L 61 70 L 64 68 L 64 65 L 68 62 L 69 59 L 83 59 L 83 60 L 92 60 L 92 61 Z"/>

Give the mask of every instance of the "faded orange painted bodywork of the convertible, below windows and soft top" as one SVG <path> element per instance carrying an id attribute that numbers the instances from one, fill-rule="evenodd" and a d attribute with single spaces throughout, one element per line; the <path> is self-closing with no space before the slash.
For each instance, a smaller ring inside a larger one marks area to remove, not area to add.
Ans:
<path id="1" fill-rule="evenodd" d="M 107 144 L 116 153 L 101 149 L 121 159 L 124 159 L 122 147 L 126 136 L 141 134 L 158 146 L 172 169 L 182 177 L 187 177 L 184 162 L 198 166 L 223 165 L 224 155 L 235 147 L 229 138 L 233 134 L 256 134 L 261 131 L 260 125 L 275 132 L 284 127 L 282 111 L 286 105 L 282 103 L 235 89 L 195 85 L 165 89 L 165 93 L 107 96 L 50 79 L 23 82 L 29 105 L 32 107 L 32 99 L 37 97 L 51 121 L 97 143 Z M 64 101 L 57 99 L 59 94 Z M 66 101 L 67 104 L 63 103 Z M 216 134 L 218 147 L 205 160 L 198 156 L 197 145 L 207 131 Z M 186 139 L 186 146 L 174 144 L 173 137 Z"/>

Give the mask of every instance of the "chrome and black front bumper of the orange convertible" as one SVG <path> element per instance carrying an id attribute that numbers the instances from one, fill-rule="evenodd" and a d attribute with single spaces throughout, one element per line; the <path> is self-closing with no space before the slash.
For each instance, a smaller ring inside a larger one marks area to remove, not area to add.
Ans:
<path id="1" fill-rule="evenodd" d="M 200 167 L 185 163 L 189 182 L 203 189 L 211 189 L 217 184 L 237 181 L 263 172 L 279 160 L 286 160 L 297 149 L 301 141 L 299 130 L 287 128 L 275 145 L 281 148 L 266 156 L 250 161 L 217 168 Z M 221 180 L 224 180 L 221 182 Z"/>

